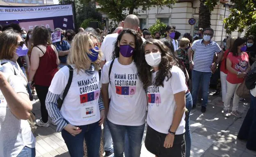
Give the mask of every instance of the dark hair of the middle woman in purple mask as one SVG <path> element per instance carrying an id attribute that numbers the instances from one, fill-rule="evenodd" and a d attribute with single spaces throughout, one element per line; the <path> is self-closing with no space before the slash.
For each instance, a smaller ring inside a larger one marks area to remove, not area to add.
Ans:
<path id="1" fill-rule="evenodd" d="M 117 41 L 114 45 L 112 59 L 114 60 L 115 58 L 119 57 L 118 43 L 121 41 L 121 38 L 122 38 L 123 34 L 125 34 L 125 33 L 129 33 L 129 34 L 133 35 L 135 38 L 135 51 L 133 53 L 133 61 L 135 62 L 135 65 L 138 67 L 139 62 L 140 62 L 139 55 L 141 54 L 141 51 L 142 51 L 143 41 L 142 41 L 142 38 L 140 37 L 139 33 L 137 33 L 136 31 L 134 31 L 132 29 L 123 29 L 123 31 L 121 31 L 121 33 L 118 35 Z"/>

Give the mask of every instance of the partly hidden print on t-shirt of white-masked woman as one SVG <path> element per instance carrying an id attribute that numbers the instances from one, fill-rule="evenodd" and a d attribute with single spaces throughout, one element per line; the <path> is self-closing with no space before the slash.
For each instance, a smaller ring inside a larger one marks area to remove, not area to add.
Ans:
<path id="1" fill-rule="evenodd" d="M 161 104 L 161 96 L 159 93 L 159 86 L 149 86 L 148 90 L 148 97 L 149 97 L 149 103 L 151 104 L 151 106 L 153 106 L 153 104 L 156 104 L 156 106 L 159 106 L 159 104 Z"/>

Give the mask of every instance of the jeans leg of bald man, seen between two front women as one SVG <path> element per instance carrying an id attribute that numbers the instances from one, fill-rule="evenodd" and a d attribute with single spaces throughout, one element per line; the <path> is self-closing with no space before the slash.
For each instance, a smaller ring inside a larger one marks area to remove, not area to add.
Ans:
<path id="1" fill-rule="evenodd" d="M 103 131 L 103 138 L 104 138 L 104 150 L 107 153 L 112 153 L 113 150 L 113 141 L 110 133 L 109 126 L 107 124 L 107 121 L 103 123 L 104 131 Z"/>

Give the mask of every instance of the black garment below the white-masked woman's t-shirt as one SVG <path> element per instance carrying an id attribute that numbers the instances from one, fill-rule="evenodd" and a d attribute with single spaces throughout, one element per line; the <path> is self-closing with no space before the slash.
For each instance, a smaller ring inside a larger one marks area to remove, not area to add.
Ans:
<path id="1" fill-rule="evenodd" d="M 174 144 L 171 148 L 164 147 L 166 135 L 159 133 L 148 125 L 145 139 L 146 149 L 158 157 L 185 157 L 186 146 L 184 133 L 175 135 Z"/>

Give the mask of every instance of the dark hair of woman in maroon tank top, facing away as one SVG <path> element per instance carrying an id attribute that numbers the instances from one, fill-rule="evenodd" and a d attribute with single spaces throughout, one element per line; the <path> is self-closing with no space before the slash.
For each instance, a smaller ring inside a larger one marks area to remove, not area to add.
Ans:
<path id="1" fill-rule="evenodd" d="M 32 34 L 34 46 L 50 44 L 50 34 L 46 27 L 37 26 L 34 28 Z"/>

